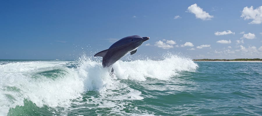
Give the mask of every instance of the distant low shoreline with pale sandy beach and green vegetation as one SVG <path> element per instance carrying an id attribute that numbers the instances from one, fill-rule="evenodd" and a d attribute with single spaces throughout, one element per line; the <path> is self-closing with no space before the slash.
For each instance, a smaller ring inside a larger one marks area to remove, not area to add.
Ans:
<path id="1" fill-rule="evenodd" d="M 212 61 L 212 62 L 262 62 L 262 59 L 193 59 L 193 61 Z"/>

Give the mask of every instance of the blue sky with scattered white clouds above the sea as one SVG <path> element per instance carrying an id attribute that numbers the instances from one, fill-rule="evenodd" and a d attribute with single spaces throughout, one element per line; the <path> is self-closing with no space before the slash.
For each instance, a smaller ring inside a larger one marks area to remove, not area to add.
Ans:
<path id="1" fill-rule="evenodd" d="M 73 60 L 150 37 L 134 57 L 262 58 L 261 0 L 0 0 L 0 59 Z"/>

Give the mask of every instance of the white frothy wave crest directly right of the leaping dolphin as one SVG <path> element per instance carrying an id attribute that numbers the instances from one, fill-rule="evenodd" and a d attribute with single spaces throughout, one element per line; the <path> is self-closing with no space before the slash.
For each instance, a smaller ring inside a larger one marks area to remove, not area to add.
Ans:
<path id="1" fill-rule="evenodd" d="M 167 80 L 180 71 L 197 68 L 192 60 L 169 56 L 164 60 L 117 61 L 113 66 L 118 79 L 146 80 L 146 77 Z"/>

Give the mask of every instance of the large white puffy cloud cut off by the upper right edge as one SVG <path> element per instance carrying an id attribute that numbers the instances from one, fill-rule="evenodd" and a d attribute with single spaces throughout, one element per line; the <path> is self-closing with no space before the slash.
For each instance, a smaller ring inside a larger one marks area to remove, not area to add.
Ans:
<path id="1" fill-rule="evenodd" d="M 249 24 L 260 24 L 262 22 L 262 6 L 256 9 L 253 9 L 253 6 L 243 8 L 241 17 L 244 20 L 253 19 Z"/>

